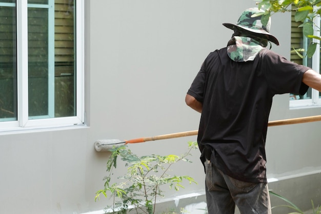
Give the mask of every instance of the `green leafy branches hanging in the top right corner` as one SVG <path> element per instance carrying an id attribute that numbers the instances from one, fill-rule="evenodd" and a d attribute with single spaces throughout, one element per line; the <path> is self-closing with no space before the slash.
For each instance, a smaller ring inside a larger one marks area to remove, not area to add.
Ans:
<path id="1" fill-rule="evenodd" d="M 259 9 L 265 11 L 261 19 L 262 23 L 265 24 L 268 22 L 268 17 L 274 13 L 295 12 L 295 22 L 303 23 L 299 27 L 303 27 L 303 34 L 310 39 L 308 50 L 304 50 L 307 52 L 306 56 L 313 56 L 318 42 L 313 42 L 312 39 L 321 40 L 321 37 L 316 35 L 320 29 L 314 23 L 314 18 L 321 14 L 321 0 L 262 0 L 257 5 Z M 295 50 L 295 52 L 298 53 L 300 51 Z M 299 53 L 298 55 L 304 57 Z"/>

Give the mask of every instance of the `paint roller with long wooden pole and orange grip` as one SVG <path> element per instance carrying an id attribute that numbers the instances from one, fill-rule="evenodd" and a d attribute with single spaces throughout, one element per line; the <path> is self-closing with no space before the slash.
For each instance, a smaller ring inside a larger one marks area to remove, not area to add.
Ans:
<path id="1" fill-rule="evenodd" d="M 281 125 L 309 123 L 309 122 L 316 122 L 316 121 L 321 121 L 321 115 L 306 116 L 304 118 L 269 121 L 268 126 L 281 126 Z M 118 139 L 97 140 L 94 143 L 94 147 L 96 151 L 110 151 L 110 149 L 113 148 L 114 146 L 121 146 L 126 144 L 133 144 L 133 143 L 143 143 L 147 141 L 165 140 L 165 139 L 172 139 L 172 138 L 182 138 L 182 137 L 197 135 L 197 133 L 198 133 L 198 130 L 194 130 L 194 131 L 184 131 L 184 132 L 177 132 L 177 133 L 171 133 L 171 134 L 157 135 L 153 137 L 136 138 L 136 139 L 124 140 L 124 141 L 118 140 Z"/>

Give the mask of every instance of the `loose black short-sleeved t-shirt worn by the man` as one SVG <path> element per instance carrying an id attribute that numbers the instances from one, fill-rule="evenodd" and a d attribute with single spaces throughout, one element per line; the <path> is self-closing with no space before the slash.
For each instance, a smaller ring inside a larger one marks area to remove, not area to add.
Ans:
<path id="1" fill-rule="evenodd" d="M 208 159 L 232 178 L 266 182 L 272 98 L 305 94 L 302 77 L 308 69 L 266 48 L 248 62 L 232 61 L 227 48 L 210 53 L 187 92 L 203 103 L 197 137 L 202 162 L 211 151 Z"/>

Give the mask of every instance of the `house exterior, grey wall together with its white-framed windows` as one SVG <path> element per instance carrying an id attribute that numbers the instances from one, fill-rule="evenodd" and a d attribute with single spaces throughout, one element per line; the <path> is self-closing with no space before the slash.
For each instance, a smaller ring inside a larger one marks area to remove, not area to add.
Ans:
<path id="1" fill-rule="evenodd" d="M 94 198 L 110 153 L 94 142 L 197 129 L 186 92 L 207 54 L 227 44 L 222 23 L 249 7 L 255 2 L 0 1 L 0 213 L 104 213 L 110 200 Z M 271 33 L 280 42 L 272 50 L 290 59 L 291 14 L 273 15 Z M 273 102 L 270 121 L 321 114 L 317 101 L 283 94 Z M 321 202 L 320 123 L 268 130 L 269 186 L 302 209 Z M 181 154 L 195 140 L 129 147 Z M 204 205 L 199 151 L 190 159 L 173 170 L 198 185 L 167 190 L 162 207 Z"/>

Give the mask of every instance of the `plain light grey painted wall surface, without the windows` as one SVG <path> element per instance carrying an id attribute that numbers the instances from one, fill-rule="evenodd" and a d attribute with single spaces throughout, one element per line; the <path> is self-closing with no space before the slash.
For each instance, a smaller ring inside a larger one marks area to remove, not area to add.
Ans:
<path id="1" fill-rule="evenodd" d="M 227 44 L 236 23 L 255 1 L 86 0 L 86 125 L 67 129 L 0 132 L 0 213 L 86 213 L 103 188 L 108 152 L 96 152 L 98 139 L 133 139 L 198 128 L 199 113 L 185 95 L 209 52 Z M 272 16 L 271 32 L 289 58 L 290 16 Z M 289 95 L 277 95 L 270 120 L 321 114 L 320 108 L 289 110 Z M 269 178 L 295 177 L 321 169 L 320 122 L 271 127 L 267 137 Z M 181 154 L 196 137 L 130 145 L 137 154 Z M 199 151 L 192 164 L 173 168 L 198 185 L 185 185 L 166 197 L 204 191 Z M 119 166 L 115 178 L 124 173 Z M 316 184 L 316 186 L 320 184 Z M 293 187 L 295 188 L 295 186 Z M 308 203 L 310 201 L 308 200 Z"/>

